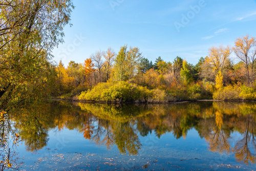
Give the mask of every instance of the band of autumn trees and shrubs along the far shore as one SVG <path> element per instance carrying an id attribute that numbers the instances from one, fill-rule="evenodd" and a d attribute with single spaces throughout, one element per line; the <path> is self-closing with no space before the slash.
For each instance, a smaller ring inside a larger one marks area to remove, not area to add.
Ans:
<path id="1" fill-rule="evenodd" d="M 55 68 L 54 95 L 63 99 L 111 102 L 255 100 L 256 40 L 237 38 L 234 47 L 212 47 L 196 65 L 177 56 L 153 63 L 137 47 L 96 51 L 84 63 Z"/>

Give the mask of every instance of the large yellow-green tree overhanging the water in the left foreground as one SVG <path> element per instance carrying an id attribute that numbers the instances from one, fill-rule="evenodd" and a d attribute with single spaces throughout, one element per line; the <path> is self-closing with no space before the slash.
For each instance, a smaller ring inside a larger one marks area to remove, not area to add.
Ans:
<path id="1" fill-rule="evenodd" d="M 52 72 L 51 50 L 63 42 L 73 7 L 71 0 L 1 1 L 0 109 L 49 92 L 39 89 Z"/>

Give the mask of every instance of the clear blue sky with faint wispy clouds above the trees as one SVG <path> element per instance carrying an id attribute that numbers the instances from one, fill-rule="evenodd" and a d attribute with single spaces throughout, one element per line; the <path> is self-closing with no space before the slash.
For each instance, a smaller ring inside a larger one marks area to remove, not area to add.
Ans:
<path id="1" fill-rule="evenodd" d="M 138 47 L 153 62 L 176 56 L 194 65 L 212 46 L 233 46 L 256 36 L 256 0 L 74 0 L 72 27 L 53 50 L 65 66 L 83 62 L 97 50 Z"/>

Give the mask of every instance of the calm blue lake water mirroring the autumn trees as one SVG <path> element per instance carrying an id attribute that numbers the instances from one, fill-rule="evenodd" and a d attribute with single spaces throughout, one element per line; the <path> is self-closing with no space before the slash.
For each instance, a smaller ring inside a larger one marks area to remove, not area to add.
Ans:
<path id="1" fill-rule="evenodd" d="M 20 170 L 256 170 L 255 102 L 55 101 L 9 116 Z"/>

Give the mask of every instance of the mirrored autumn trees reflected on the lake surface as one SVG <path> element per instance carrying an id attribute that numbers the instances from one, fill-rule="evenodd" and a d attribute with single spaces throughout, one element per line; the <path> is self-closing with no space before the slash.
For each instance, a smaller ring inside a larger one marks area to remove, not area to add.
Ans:
<path id="1" fill-rule="evenodd" d="M 39 110 L 38 110 L 39 109 Z M 172 132 L 185 138 L 196 129 L 214 153 L 234 153 L 238 162 L 255 163 L 256 104 L 233 102 L 193 102 L 175 104 L 93 104 L 52 102 L 15 112 L 14 128 L 19 130 L 27 151 L 47 145 L 51 129 L 76 129 L 83 137 L 110 149 L 114 144 L 122 154 L 136 155 L 139 136 L 154 132 L 160 138 Z M 231 138 L 231 133 L 243 135 Z M 231 144 L 234 144 L 233 146 Z"/>

